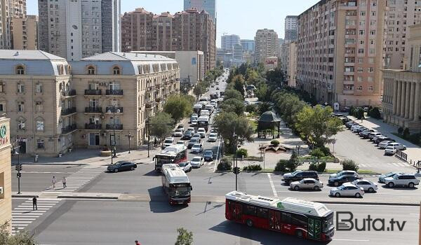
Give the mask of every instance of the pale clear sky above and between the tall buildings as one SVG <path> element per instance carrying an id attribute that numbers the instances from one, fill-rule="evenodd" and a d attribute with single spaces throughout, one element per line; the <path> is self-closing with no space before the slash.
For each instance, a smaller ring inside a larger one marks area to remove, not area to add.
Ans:
<path id="1" fill-rule="evenodd" d="M 283 38 L 286 15 L 299 15 L 319 0 L 217 0 L 217 45 L 223 33 L 253 39 L 258 29 L 274 29 Z M 152 13 L 175 13 L 183 8 L 182 0 L 121 0 L 121 13 L 145 8 Z M 27 0 L 27 13 L 38 14 L 38 1 Z"/>

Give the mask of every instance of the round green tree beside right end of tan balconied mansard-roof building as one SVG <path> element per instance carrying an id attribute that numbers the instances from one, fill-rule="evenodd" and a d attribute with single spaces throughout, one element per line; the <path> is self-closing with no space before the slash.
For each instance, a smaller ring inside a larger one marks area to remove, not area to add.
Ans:
<path id="1" fill-rule="evenodd" d="M 189 116 L 192 113 L 192 103 L 187 97 L 171 95 L 163 106 L 163 111 L 170 114 L 178 122 L 180 119 Z"/>

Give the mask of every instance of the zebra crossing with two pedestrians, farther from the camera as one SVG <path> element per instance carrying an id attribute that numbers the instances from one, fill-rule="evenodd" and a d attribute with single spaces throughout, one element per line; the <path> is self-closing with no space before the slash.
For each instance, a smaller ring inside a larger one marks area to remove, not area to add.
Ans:
<path id="1" fill-rule="evenodd" d="M 72 193 L 82 186 L 86 185 L 89 181 L 95 179 L 98 175 L 103 173 L 107 167 L 104 166 L 87 166 L 80 169 L 74 174 L 70 174 L 66 178 L 66 188 L 63 188 L 62 185 L 62 176 L 55 176 L 57 178 L 57 183 L 55 183 L 55 188 L 53 184 L 44 190 L 44 193 Z"/>

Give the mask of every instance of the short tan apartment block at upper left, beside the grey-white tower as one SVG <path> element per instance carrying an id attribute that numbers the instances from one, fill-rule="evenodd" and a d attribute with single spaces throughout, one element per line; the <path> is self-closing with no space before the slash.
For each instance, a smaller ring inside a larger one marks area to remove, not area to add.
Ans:
<path id="1" fill-rule="evenodd" d="M 27 15 L 25 18 L 13 18 L 13 49 L 38 49 L 38 16 Z"/>

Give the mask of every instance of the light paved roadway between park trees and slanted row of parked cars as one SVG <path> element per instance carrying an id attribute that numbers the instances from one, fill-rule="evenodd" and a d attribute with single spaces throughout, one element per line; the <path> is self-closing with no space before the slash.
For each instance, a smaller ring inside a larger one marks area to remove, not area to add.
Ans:
<path id="1" fill-rule="evenodd" d="M 358 134 L 345 129 L 336 136 L 336 143 L 329 145 L 330 151 L 340 159 L 351 159 L 359 164 L 360 169 L 368 169 L 377 173 L 387 172 L 415 172 L 407 162 L 403 162 L 392 155 L 385 155 L 384 150 L 377 148 L 372 141 L 362 139 Z"/>

